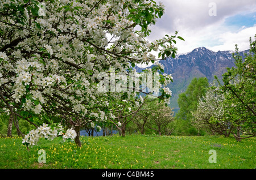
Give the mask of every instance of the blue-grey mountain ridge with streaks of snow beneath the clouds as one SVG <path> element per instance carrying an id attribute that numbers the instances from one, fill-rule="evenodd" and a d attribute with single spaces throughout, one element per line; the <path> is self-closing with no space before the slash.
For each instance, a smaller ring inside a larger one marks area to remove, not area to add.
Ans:
<path id="1" fill-rule="evenodd" d="M 171 74 L 174 78 L 174 82 L 167 85 L 173 94 L 170 101 L 171 108 L 179 109 L 177 98 L 187 89 L 193 78 L 206 77 L 211 83 L 216 75 L 221 80 L 227 67 L 236 66 L 233 53 L 234 51 L 230 50 L 213 52 L 205 47 L 199 47 L 188 53 L 177 54 L 175 58 L 160 60 L 159 63 L 164 65 L 164 73 Z M 238 53 L 244 59 L 244 54 L 249 54 L 249 49 Z M 135 66 L 135 68 L 140 72 L 146 67 Z"/>

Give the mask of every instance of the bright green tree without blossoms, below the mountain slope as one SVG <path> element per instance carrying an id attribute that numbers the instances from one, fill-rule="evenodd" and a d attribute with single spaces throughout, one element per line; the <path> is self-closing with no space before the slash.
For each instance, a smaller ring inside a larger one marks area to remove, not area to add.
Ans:
<path id="1" fill-rule="evenodd" d="M 175 131 L 178 134 L 198 134 L 192 125 L 192 112 L 197 109 L 197 104 L 209 87 L 207 78 L 193 78 L 187 90 L 179 95 L 177 100 L 179 112 L 175 116 Z"/>

